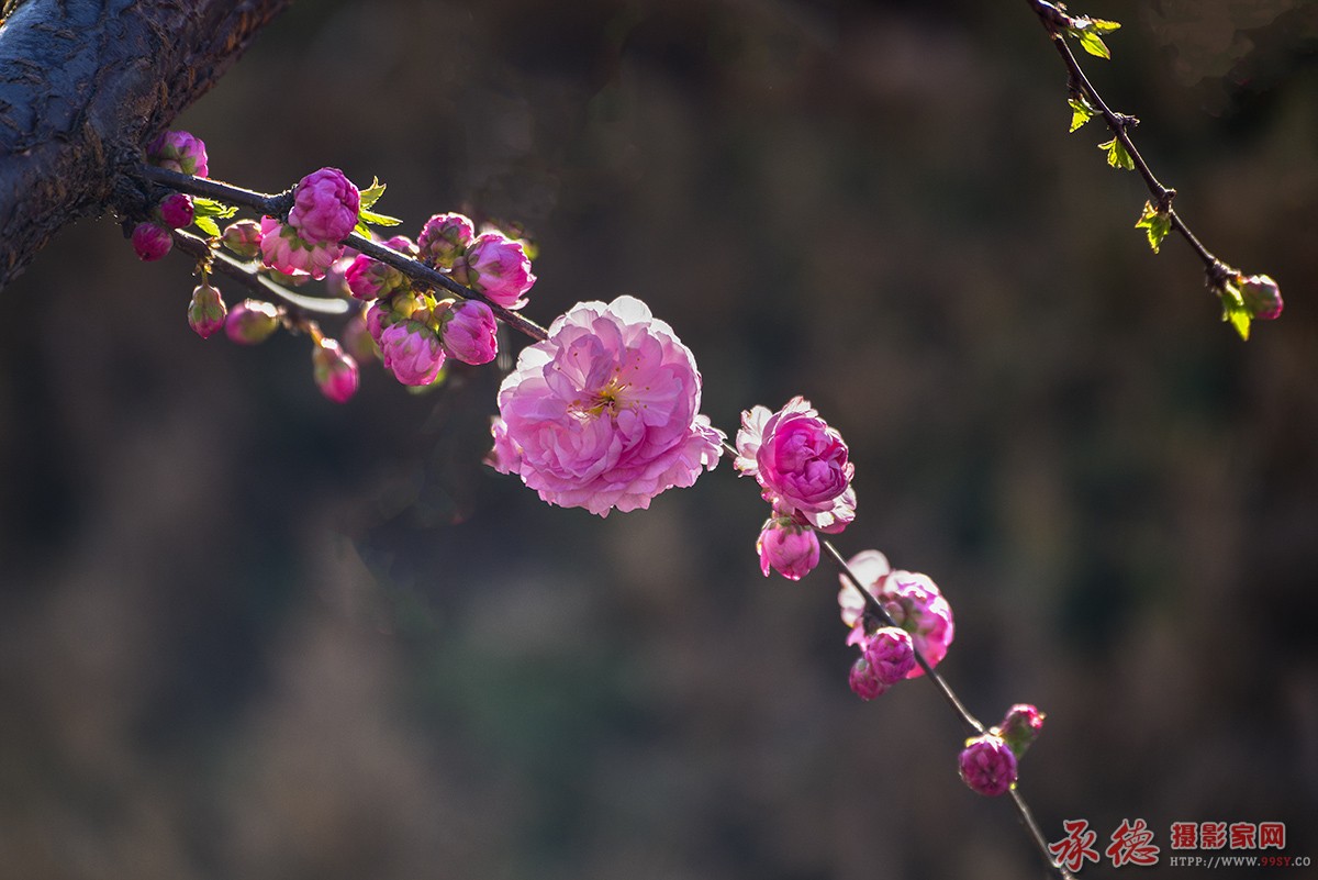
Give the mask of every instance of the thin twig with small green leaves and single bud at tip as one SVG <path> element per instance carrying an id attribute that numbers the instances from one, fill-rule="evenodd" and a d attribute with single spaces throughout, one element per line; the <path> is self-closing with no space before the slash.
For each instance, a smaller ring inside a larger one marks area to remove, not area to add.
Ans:
<path id="1" fill-rule="evenodd" d="M 1222 320 L 1228 320 L 1240 339 L 1249 339 L 1251 320 L 1272 320 L 1281 315 L 1281 294 L 1276 282 L 1268 275 L 1246 277 L 1244 273 L 1219 260 L 1198 236 L 1190 232 L 1190 227 L 1172 207 L 1176 190 L 1164 186 L 1155 177 L 1131 138 L 1131 130 L 1139 125 L 1139 119 L 1115 112 L 1103 100 L 1066 42 L 1068 36 L 1073 37 L 1089 54 L 1108 58 L 1110 53 L 1099 34 L 1116 30 L 1120 25 L 1115 21 L 1068 14 L 1064 5 L 1048 0 L 1027 0 L 1027 3 L 1039 16 L 1053 47 L 1066 66 L 1073 111 L 1070 130 L 1074 132 L 1095 115 L 1103 117 L 1103 123 L 1112 133 L 1111 141 L 1099 145 L 1107 150 L 1108 165 L 1139 173 L 1152 195 L 1152 199 L 1145 202 L 1144 212 L 1135 227 L 1145 231 L 1153 253 L 1159 252 L 1169 232 L 1178 232 L 1203 262 L 1207 287 L 1222 300 Z"/>

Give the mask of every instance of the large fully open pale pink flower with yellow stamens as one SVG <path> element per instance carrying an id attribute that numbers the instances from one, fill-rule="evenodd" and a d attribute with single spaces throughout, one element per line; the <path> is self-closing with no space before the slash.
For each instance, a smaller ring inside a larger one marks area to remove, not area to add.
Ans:
<path id="1" fill-rule="evenodd" d="M 500 387 L 490 464 L 540 498 L 608 516 L 646 509 L 718 464 L 691 349 L 633 296 L 579 303 Z"/>

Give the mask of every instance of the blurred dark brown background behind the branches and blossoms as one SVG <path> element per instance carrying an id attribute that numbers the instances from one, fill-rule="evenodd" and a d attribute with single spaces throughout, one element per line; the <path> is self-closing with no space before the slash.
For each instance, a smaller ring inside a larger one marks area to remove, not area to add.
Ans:
<path id="1" fill-rule="evenodd" d="M 840 545 L 944 588 L 986 722 L 1048 711 L 1050 839 L 1318 856 L 1318 7 L 1078 11 L 1124 22 L 1085 63 L 1191 227 L 1280 279 L 1248 344 L 1068 134 L 1023 3 L 299 0 L 179 125 L 258 190 L 377 174 L 413 234 L 525 223 L 527 314 L 642 296 L 725 429 L 813 400 Z M 306 339 L 192 335 L 192 283 L 103 219 L 4 291 L 0 873 L 1043 873 L 932 688 L 851 696 L 833 572 L 760 577 L 726 462 L 550 509 L 480 465 L 497 370 L 336 407 Z"/>

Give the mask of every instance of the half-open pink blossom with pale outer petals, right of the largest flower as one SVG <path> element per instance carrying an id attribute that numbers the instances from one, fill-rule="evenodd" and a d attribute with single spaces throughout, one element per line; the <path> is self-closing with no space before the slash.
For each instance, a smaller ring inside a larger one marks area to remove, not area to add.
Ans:
<path id="1" fill-rule="evenodd" d="M 799 514 L 825 532 L 855 519 L 855 465 L 842 435 L 796 397 L 778 412 L 757 406 L 742 412 L 735 468 L 753 476 L 764 501 L 783 514 Z"/>

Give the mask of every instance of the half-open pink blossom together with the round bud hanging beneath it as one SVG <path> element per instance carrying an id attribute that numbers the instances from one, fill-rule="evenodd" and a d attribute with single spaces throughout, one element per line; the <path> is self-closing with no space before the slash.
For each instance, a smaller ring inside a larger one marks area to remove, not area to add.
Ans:
<path id="1" fill-rule="evenodd" d="M 855 466 L 846 443 L 805 398 L 778 412 L 757 406 L 742 412 L 735 468 L 754 477 L 772 514 L 755 544 L 760 570 L 799 580 L 818 565 L 815 530 L 841 532 L 855 519 Z"/>

